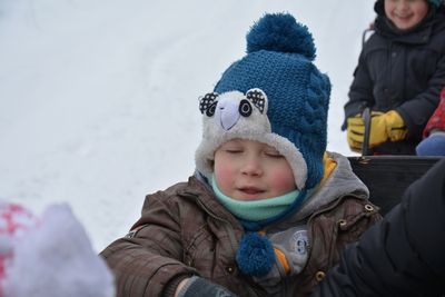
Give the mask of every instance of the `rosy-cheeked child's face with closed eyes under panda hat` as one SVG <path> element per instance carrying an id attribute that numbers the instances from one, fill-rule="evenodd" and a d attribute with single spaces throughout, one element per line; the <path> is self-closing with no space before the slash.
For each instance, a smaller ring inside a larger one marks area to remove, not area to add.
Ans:
<path id="1" fill-rule="evenodd" d="M 293 170 L 275 148 L 254 140 L 233 139 L 215 152 L 215 179 L 226 196 L 258 200 L 296 189 Z"/>

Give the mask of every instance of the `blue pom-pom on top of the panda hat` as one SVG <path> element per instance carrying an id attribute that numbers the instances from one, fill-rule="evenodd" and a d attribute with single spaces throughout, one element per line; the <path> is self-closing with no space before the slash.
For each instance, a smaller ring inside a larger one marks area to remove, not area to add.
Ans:
<path id="1" fill-rule="evenodd" d="M 314 60 L 316 49 L 308 28 L 289 13 L 267 13 L 250 28 L 246 36 L 247 53 L 269 50 L 300 53 Z"/>

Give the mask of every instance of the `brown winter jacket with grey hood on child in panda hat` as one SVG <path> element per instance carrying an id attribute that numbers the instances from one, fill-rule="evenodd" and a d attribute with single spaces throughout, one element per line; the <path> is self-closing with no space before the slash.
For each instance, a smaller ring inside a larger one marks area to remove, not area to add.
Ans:
<path id="1" fill-rule="evenodd" d="M 191 177 L 146 198 L 131 238 L 121 238 L 101 255 L 116 274 L 118 297 L 172 296 L 185 277 L 198 275 L 239 296 L 308 296 L 338 259 L 376 220 L 376 207 L 345 157 L 330 155 L 336 167 L 301 208 L 269 226 L 267 236 L 304 226 L 308 258 L 297 275 L 268 283 L 243 275 L 235 254 L 244 235 L 240 222 L 215 198 L 210 188 Z M 270 239 L 273 241 L 273 239 Z M 293 238 L 280 238 L 291 245 Z"/>

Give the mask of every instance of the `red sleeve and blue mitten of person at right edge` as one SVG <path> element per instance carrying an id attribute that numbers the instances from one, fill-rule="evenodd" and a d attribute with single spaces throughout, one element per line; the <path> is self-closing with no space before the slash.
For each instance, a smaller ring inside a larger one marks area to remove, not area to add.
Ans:
<path id="1" fill-rule="evenodd" d="M 416 147 L 418 156 L 445 156 L 445 88 L 441 102 L 424 130 L 424 140 Z"/>

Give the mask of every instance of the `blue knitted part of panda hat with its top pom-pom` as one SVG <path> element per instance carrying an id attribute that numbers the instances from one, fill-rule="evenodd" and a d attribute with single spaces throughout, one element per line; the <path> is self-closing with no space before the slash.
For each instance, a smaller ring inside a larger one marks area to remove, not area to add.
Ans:
<path id="1" fill-rule="evenodd" d="M 266 14 L 247 34 L 247 55 L 222 73 L 214 90 L 244 93 L 258 88 L 266 93 L 271 133 L 303 155 L 308 188 L 323 176 L 330 95 L 328 77 L 312 62 L 315 51 L 312 34 L 294 17 Z"/>

